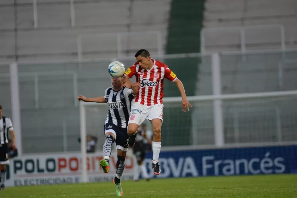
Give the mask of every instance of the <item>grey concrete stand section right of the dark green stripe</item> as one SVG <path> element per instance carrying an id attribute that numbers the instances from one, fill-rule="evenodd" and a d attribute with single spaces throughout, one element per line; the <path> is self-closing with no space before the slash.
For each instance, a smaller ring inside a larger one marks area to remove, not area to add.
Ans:
<path id="1" fill-rule="evenodd" d="M 297 5 L 294 0 L 208 0 L 205 2 L 205 28 L 283 25 L 286 48 L 296 48 Z M 206 51 L 240 50 L 240 32 L 218 29 L 205 35 Z M 280 29 L 266 27 L 245 32 L 246 49 L 280 49 Z"/>

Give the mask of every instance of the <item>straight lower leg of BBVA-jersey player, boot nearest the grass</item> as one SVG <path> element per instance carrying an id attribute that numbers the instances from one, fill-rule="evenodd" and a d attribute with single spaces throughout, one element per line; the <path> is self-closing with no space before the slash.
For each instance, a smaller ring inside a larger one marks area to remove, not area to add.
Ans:
<path id="1" fill-rule="evenodd" d="M 121 177 L 125 169 L 125 157 L 126 152 L 128 150 L 128 141 L 129 141 L 129 135 L 127 133 L 126 128 L 120 128 L 118 127 L 117 132 L 117 138 L 115 140 L 115 143 L 117 145 L 117 152 L 118 152 L 118 161 L 117 161 L 117 171 L 115 178 L 113 179 L 113 183 L 115 185 L 115 192 L 117 196 L 123 195 L 123 190 L 121 186 Z"/>

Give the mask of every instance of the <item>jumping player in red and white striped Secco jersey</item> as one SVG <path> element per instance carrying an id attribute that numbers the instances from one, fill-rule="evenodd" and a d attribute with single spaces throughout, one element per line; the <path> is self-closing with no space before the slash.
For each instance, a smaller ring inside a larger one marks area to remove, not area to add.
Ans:
<path id="1" fill-rule="evenodd" d="M 152 59 L 149 52 L 145 49 L 138 50 L 135 54 L 136 63 L 129 67 L 122 82 L 127 88 L 139 87 L 137 95 L 133 99 L 131 106 L 130 119 L 128 122 L 128 134 L 130 135 L 130 145 L 133 146 L 139 125 L 148 119 L 153 128 L 153 160 L 152 168 L 154 173 L 161 173 L 158 163 L 161 150 L 161 125 L 163 122 L 163 85 L 164 79 L 174 82 L 182 95 L 182 111 L 189 111 L 192 107 L 187 100 L 185 89 L 182 82 L 171 71 L 167 65 L 158 60 Z M 135 75 L 136 83 L 130 81 Z"/>

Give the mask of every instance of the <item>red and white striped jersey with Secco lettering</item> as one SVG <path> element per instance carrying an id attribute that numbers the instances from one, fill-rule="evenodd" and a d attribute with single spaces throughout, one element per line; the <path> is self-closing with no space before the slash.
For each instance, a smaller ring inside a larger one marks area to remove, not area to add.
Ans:
<path id="1" fill-rule="evenodd" d="M 136 62 L 133 66 L 129 67 L 125 76 L 132 78 L 136 76 L 136 82 L 140 82 L 140 89 L 134 97 L 134 102 L 141 105 L 151 106 L 163 103 L 163 85 L 164 78 L 174 82 L 176 75 L 160 61 L 152 59 L 154 65 L 151 69 L 142 69 Z"/>

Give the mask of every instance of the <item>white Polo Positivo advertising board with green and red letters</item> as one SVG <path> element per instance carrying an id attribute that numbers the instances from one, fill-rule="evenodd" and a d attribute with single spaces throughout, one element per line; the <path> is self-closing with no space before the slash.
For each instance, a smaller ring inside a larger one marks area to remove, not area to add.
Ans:
<path id="1" fill-rule="evenodd" d="M 103 173 L 99 165 L 102 153 L 88 155 L 88 180 L 91 182 L 112 181 L 116 172 L 117 156 L 111 155 L 110 173 Z M 133 178 L 132 157 L 126 157 L 122 179 Z M 52 185 L 81 182 L 81 158 L 76 154 L 49 154 L 24 156 L 10 160 L 7 186 Z"/>

